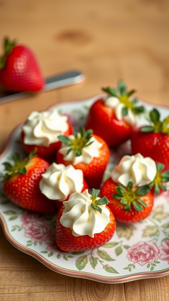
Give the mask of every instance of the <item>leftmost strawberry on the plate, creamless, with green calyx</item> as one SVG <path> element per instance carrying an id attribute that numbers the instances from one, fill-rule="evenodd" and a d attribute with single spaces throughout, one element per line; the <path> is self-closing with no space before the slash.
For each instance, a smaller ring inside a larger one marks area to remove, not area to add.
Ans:
<path id="1" fill-rule="evenodd" d="M 49 163 L 40 157 L 34 157 L 34 152 L 20 161 L 17 153 L 12 156 L 14 165 L 4 163 L 3 190 L 12 203 L 25 209 L 39 213 L 54 214 L 55 203 L 41 193 L 39 182 Z"/>

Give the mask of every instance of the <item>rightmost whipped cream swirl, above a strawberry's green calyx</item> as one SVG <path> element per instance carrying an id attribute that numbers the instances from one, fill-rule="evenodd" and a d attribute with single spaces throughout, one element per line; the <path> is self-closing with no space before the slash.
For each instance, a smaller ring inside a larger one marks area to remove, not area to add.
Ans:
<path id="1" fill-rule="evenodd" d="M 143 157 L 140 153 L 135 156 L 124 156 L 119 164 L 112 170 L 111 178 L 116 183 L 134 186 L 143 186 L 151 183 L 156 175 L 155 161 L 150 157 Z"/>

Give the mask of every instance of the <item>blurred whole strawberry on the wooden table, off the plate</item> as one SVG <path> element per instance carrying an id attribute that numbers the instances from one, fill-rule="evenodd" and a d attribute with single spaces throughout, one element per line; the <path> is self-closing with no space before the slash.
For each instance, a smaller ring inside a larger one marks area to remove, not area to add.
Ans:
<path id="1" fill-rule="evenodd" d="M 39 91 L 44 79 L 33 52 L 15 40 L 4 41 L 4 54 L 0 58 L 0 84 L 10 91 Z"/>

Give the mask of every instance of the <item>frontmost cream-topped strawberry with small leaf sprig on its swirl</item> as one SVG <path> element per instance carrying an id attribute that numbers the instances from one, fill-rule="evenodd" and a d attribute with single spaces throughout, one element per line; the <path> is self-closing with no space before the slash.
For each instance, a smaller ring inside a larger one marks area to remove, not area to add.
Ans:
<path id="1" fill-rule="evenodd" d="M 73 193 L 57 215 L 56 244 L 67 252 L 93 250 L 106 244 L 115 232 L 115 218 L 100 190 Z"/>

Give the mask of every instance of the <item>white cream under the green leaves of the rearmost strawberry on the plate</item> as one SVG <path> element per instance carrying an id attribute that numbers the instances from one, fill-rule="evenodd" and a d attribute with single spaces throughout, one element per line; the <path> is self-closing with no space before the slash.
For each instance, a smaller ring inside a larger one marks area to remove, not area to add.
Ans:
<path id="1" fill-rule="evenodd" d="M 132 126 L 136 123 L 136 115 L 130 108 L 128 108 L 128 114 L 126 116 L 123 116 L 122 109 L 124 108 L 124 104 L 121 103 L 117 97 L 110 96 L 106 98 L 105 105 L 114 109 L 117 120 L 123 119 Z"/>

